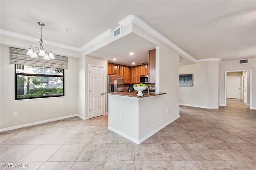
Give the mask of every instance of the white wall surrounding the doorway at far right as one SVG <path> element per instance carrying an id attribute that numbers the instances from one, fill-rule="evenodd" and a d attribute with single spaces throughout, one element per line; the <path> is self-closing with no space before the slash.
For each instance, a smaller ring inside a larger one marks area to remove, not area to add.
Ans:
<path id="1" fill-rule="evenodd" d="M 220 105 L 225 105 L 225 71 L 252 70 L 252 109 L 256 109 L 256 58 L 250 58 L 248 64 L 238 64 L 238 60 L 222 61 L 220 63 Z"/>

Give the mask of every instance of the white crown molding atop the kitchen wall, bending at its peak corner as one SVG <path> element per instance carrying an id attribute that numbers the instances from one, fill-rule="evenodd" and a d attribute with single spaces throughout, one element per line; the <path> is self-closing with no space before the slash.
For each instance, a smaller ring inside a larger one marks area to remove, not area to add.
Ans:
<path id="1" fill-rule="evenodd" d="M 168 40 L 166 37 L 164 37 L 158 31 L 156 31 L 155 29 L 150 27 L 147 23 L 140 20 L 140 18 L 138 18 L 136 15 L 129 15 L 126 18 L 124 18 L 123 20 L 118 22 L 118 24 L 120 24 L 122 27 L 128 25 L 129 23 L 134 23 L 138 27 L 142 28 L 144 31 L 150 33 L 151 35 L 153 35 L 154 37 L 156 37 L 160 41 L 166 43 L 167 45 L 169 45 L 170 47 L 172 47 L 173 49 L 175 49 L 176 51 L 178 51 L 179 53 L 184 55 L 189 60 L 191 60 L 193 62 L 196 62 L 196 59 L 194 59 L 194 57 L 190 56 L 188 53 L 183 51 L 180 47 L 178 47 L 177 45 L 172 43 L 170 40 Z"/>

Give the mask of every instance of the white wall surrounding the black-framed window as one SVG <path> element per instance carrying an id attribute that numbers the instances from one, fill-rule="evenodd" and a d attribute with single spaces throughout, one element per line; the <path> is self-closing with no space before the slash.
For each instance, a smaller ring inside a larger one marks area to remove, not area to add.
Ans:
<path id="1" fill-rule="evenodd" d="M 14 64 L 10 64 L 10 48 L 1 46 L 0 54 L 1 129 L 77 113 L 77 59 L 68 58 L 65 97 L 14 100 Z M 13 111 L 18 111 L 18 116 L 14 117 Z"/>

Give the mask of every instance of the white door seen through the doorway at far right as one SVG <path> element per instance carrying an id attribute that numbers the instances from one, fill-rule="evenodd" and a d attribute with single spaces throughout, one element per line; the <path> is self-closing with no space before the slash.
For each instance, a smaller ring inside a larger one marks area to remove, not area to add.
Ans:
<path id="1" fill-rule="evenodd" d="M 241 99 L 241 76 L 227 77 L 227 98 Z"/>

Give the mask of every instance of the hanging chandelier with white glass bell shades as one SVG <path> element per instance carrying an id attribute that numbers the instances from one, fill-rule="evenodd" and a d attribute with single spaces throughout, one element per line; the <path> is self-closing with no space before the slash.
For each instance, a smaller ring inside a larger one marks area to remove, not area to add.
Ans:
<path id="1" fill-rule="evenodd" d="M 45 60 L 54 59 L 52 50 L 50 48 L 43 48 L 44 42 L 42 38 L 42 26 L 44 26 L 44 23 L 38 22 L 38 24 L 41 25 L 41 38 L 40 41 L 38 41 L 40 43 L 40 49 L 36 45 L 31 45 L 28 49 L 27 55 L 29 55 L 33 59 L 38 59 L 37 55 L 44 57 L 43 59 Z"/>

